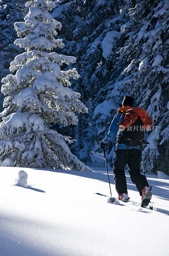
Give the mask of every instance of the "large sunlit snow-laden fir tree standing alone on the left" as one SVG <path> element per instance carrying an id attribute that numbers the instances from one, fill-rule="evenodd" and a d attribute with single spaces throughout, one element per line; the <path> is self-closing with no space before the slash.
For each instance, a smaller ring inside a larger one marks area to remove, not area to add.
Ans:
<path id="1" fill-rule="evenodd" d="M 80 93 L 69 88 L 69 77 L 79 78 L 75 68 L 62 71 L 60 66 L 75 62 L 75 57 L 50 52 L 64 47 L 55 28 L 61 23 L 49 13 L 55 7 L 52 1 L 35 0 L 26 3 L 29 13 L 25 22 L 16 22 L 18 36 L 14 43 L 26 52 L 15 57 L 9 74 L 3 78 L 4 111 L 0 124 L 1 166 L 70 168 L 90 171 L 69 150 L 49 122 L 77 124 L 75 112 L 86 112 Z"/>

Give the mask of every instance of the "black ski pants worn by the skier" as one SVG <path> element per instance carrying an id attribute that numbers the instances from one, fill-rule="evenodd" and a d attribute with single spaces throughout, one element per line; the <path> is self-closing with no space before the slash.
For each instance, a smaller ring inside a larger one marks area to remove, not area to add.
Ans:
<path id="1" fill-rule="evenodd" d="M 136 184 L 136 187 L 140 193 L 142 194 L 142 189 L 148 185 L 147 179 L 144 175 L 140 173 L 140 162 L 141 162 L 141 151 L 137 148 L 127 149 L 116 149 L 114 165 L 113 165 L 113 173 L 114 180 L 116 185 L 116 191 L 118 195 L 123 193 L 127 193 L 127 183 L 126 176 L 124 172 L 124 167 L 128 164 L 129 174 L 131 181 Z"/>

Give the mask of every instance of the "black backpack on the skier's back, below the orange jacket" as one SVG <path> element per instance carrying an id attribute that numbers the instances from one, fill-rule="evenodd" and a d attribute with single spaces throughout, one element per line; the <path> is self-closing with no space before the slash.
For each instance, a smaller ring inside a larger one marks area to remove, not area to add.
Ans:
<path id="1" fill-rule="evenodd" d="M 121 118 L 120 118 L 121 119 Z M 119 120 L 119 122 L 121 122 Z M 127 146 L 142 146 L 144 141 L 144 129 L 143 124 L 138 116 L 137 120 L 127 126 L 123 132 L 119 132 L 116 140 L 116 144 L 126 144 Z"/>

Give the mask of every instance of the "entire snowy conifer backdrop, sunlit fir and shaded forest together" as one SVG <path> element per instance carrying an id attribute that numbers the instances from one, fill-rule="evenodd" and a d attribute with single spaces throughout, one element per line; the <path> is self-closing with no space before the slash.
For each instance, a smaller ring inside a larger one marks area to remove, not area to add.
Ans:
<path id="1" fill-rule="evenodd" d="M 127 94 L 155 127 L 145 169 L 167 172 L 168 19 L 168 0 L 2 0 L 1 165 L 88 170 Z"/>

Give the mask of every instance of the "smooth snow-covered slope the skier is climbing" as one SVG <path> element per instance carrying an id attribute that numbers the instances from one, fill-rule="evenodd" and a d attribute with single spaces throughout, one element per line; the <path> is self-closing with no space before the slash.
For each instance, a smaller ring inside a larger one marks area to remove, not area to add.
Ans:
<path id="1" fill-rule="evenodd" d="M 109 204 L 105 168 L 94 172 L 0 167 L 1 256 L 168 255 L 169 180 L 147 175 L 154 210 L 140 207 L 127 175 L 130 203 Z M 14 186 L 18 171 L 28 188 Z M 110 173 L 112 195 L 116 195 Z"/>

